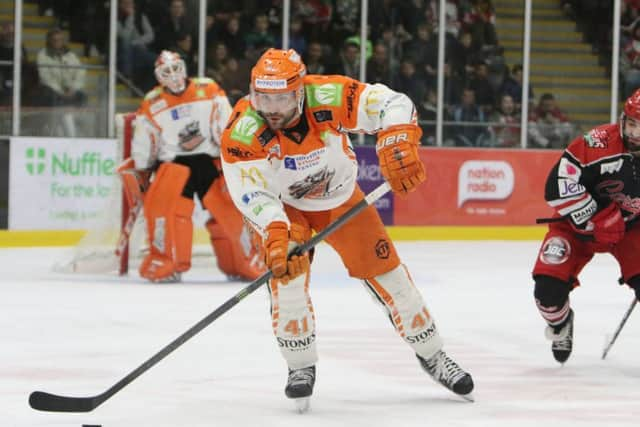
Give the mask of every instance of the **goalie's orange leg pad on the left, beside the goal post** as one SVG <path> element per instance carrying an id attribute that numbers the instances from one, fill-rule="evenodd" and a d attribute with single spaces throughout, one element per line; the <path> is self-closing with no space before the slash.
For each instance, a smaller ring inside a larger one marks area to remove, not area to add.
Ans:
<path id="1" fill-rule="evenodd" d="M 191 266 L 193 200 L 182 197 L 188 167 L 164 163 L 144 198 L 150 250 L 140 275 L 161 281 Z"/>

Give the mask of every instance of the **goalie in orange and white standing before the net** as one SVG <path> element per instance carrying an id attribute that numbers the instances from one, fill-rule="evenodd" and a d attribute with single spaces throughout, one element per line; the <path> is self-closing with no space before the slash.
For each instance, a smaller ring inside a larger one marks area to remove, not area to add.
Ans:
<path id="1" fill-rule="evenodd" d="M 177 53 L 163 51 L 155 75 L 159 86 L 136 113 L 130 162 L 154 175 L 144 194 L 150 251 L 140 275 L 153 282 L 179 281 L 189 270 L 197 195 L 211 214 L 206 227 L 218 267 L 230 277 L 253 280 L 266 271 L 262 248 L 221 174 L 219 144 L 231 112 L 229 101 L 213 80 L 187 78 Z"/>

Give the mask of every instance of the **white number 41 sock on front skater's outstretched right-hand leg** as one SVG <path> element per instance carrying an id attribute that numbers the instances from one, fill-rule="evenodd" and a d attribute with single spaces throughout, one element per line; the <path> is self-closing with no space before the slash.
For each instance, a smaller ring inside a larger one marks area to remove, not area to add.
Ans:
<path id="1" fill-rule="evenodd" d="M 429 359 L 442 348 L 442 338 L 433 318 L 403 264 L 363 282 L 416 354 Z"/>

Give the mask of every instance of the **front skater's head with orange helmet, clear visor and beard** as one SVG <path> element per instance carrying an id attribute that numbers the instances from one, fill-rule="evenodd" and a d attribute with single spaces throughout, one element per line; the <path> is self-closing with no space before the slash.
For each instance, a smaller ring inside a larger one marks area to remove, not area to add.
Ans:
<path id="1" fill-rule="evenodd" d="M 281 129 L 302 114 L 306 73 L 293 49 L 269 49 L 251 70 L 251 106 L 270 128 Z"/>

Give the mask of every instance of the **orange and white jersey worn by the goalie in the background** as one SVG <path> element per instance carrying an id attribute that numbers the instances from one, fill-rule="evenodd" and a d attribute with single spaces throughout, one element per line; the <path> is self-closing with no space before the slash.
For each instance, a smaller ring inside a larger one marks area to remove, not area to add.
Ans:
<path id="1" fill-rule="evenodd" d="M 136 112 L 132 157 L 147 169 L 176 156 L 206 153 L 220 156 L 220 138 L 231 105 L 224 91 L 208 78 L 192 78 L 180 95 L 158 86 Z"/>

